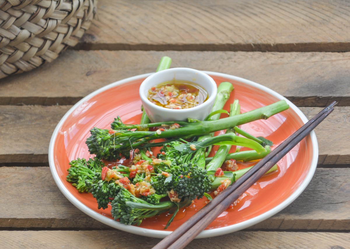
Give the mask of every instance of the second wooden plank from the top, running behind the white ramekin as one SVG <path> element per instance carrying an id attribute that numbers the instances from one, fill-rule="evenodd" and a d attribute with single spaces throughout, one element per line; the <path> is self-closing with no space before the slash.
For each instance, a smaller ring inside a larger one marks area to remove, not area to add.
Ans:
<path id="1" fill-rule="evenodd" d="M 1 79 L 0 105 L 72 105 L 102 86 L 151 73 L 164 55 L 173 59 L 172 67 L 246 78 L 297 106 L 321 107 L 333 100 L 350 105 L 350 53 L 72 50 L 38 69 Z"/>

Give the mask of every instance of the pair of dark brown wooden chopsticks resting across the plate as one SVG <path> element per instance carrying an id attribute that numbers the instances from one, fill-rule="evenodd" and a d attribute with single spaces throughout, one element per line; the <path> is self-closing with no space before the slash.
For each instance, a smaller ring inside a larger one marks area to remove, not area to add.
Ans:
<path id="1" fill-rule="evenodd" d="M 320 124 L 334 110 L 335 104 L 337 103 L 333 101 L 329 106 L 310 119 L 237 181 L 233 182 L 231 186 L 216 196 L 210 203 L 205 205 L 194 216 L 161 240 L 152 249 L 182 249 L 186 247 L 186 245 L 201 233 L 205 227 L 215 220 L 224 210 L 236 201 L 239 196 L 257 182 L 261 176 Z"/>

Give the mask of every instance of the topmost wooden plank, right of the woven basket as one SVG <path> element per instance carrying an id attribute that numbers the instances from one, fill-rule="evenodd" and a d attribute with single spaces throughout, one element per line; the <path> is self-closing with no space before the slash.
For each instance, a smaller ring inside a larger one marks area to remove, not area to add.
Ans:
<path id="1" fill-rule="evenodd" d="M 343 0 L 99 0 L 97 9 L 77 49 L 349 51 Z"/>

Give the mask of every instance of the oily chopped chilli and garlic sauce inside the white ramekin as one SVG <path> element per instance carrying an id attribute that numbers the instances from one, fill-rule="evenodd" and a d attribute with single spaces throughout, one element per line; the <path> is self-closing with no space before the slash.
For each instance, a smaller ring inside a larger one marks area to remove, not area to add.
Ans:
<path id="1" fill-rule="evenodd" d="M 147 98 L 161 107 L 188 109 L 204 103 L 208 93 L 193 82 L 174 80 L 151 87 Z"/>

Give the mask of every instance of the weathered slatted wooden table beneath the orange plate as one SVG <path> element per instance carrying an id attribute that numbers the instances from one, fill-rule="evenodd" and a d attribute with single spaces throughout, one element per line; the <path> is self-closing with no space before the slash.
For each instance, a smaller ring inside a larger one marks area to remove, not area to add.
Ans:
<path id="1" fill-rule="evenodd" d="M 271 88 L 316 128 L 313 180 L 286 209 L 187 248 L 350 247 L 350 3 L 348 1 L 108 1 L 75 49 L 0 80 L 0 247 L 151 248 L 159 239 L 110 228 L 73 206 L 48 167 L 51 134 L 90 92 L 172 67 L 236 75 Z"/>

